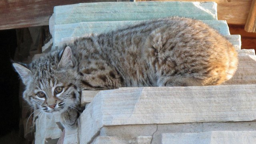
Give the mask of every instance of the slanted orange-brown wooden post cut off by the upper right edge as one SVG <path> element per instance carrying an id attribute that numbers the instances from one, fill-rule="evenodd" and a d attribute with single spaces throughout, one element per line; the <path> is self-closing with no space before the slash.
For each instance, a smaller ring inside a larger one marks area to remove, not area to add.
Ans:
<path id="1" fill-rule="evenodd" d="M 256 32 L 256 0 L 252 1 L 252 6 L 244 27 L 247 32 Z"/>

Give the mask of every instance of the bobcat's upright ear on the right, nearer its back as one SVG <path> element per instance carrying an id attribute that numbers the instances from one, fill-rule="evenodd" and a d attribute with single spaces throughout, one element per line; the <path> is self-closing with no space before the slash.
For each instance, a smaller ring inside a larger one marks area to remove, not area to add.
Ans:
<path id="1" fill-rule="evenodd" d="M 71 48 L 67 46 L 62 52 L 60 52 L 61 58 L 58 64 L 58 68 L 60 67 L 72 67 L 74 64 L 72 62 L 72 52 Z"/>

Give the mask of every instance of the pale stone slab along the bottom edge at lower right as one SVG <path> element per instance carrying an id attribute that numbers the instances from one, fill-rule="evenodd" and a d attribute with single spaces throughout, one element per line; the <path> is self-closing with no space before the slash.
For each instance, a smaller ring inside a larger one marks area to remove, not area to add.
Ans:
<path id="1" fill-rule="evenodd" d="M 161 144 L 255 144 L 256 131 L 162 134 Z"/>

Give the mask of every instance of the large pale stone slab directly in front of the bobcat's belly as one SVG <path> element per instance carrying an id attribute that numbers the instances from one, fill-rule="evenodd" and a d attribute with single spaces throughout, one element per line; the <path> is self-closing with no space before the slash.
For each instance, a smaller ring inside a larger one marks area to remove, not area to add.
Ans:
<path id="1" fill-rule="evenodd" d="M 256 85 L 145 87 L 100 91 L 80 115 L 80 141 L 103 126 L 256 120 Z"/>

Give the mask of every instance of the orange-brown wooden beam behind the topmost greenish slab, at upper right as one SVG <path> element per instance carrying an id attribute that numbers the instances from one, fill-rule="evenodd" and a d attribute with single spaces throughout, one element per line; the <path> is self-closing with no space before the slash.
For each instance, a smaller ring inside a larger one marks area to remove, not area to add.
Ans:
<path id="1" fill-rule="evenodd" d="M 176 0 L 136 0 L 138 1 L 176 1 Z M 228 24 L 244 25 L 252 4 L 252 0 L 181 0 L 189 2 L 214 1 L 218 4 L 218 20 L 226 20 Z"/>

